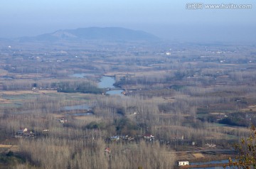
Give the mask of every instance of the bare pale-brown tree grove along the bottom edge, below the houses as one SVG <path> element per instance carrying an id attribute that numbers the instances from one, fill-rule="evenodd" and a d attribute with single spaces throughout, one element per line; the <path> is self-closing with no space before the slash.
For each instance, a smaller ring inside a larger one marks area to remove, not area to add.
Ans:
<path id="1" fill-rule="evenodd" d="M 159 143 L 106 145 L 101 138 L 21 140 L 23 156 L 36 168 L 171 168 L 175 158 L 166 156 Z M 110 152 L 105 148 L 111 147 Z M 54 158 L 53 158 L 54 157 Z M 21 167 L 21 166 L 20 166 Z"/>

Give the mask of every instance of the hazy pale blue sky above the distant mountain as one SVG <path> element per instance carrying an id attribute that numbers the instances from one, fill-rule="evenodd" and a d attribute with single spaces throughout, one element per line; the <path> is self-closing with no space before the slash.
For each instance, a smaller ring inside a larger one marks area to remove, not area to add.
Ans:
<path id="1" fill-rule="evenodd" d="M 202 9 L 186 9 L 200 2 Z M 206 9 L 252 4 L 252 9 Z M 120 26 L 171 40 L 256 40 L 255 0 L 1 0 L 0 37 Z"/>

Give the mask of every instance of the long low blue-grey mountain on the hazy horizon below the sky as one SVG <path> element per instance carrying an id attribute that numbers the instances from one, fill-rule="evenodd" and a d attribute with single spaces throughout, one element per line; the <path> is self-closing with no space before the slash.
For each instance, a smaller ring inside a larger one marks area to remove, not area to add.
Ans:
<path id="1" fill-rule="evenodd" d="M 144 31 L 119 27 L 90 27 L 55 31 L 40 36 L 23 37 L 21 40 L 157 40 L 158 37 Z"/>

